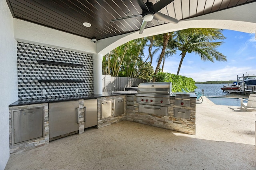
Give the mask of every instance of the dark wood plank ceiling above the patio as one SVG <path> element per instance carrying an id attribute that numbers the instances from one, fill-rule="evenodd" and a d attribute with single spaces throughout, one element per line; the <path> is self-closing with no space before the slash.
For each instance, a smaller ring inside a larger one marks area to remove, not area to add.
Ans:
<path id="1" fill-rule="evenodd" d="M 153 4 L 159 0 L 150 0 Z M 178 20 L 225 10 L 256 0 L 174 0 L 160 10 Z M 86 38 L 104 39 L 138 31 L 142 16 L 110 22 L 115 18 L 142 14 L 136 0 L 6 0 L 12 16 Z M 146 0 L 144 0 L 146 2 Z M 83 23 L 91 23 L 84 27 Z M 147 27 L 164 24 L 152 20 Z"/>

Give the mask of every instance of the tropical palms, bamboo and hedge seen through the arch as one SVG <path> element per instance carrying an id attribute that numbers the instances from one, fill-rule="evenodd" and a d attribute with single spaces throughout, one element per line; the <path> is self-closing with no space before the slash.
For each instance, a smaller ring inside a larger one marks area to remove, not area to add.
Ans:
<path id="1" fill-rule="evenodd" d="M 192 78 L 178 76 L 184 57 L 187 53 L 194 53 L 202 61 L 226 61 L 226 56 L 216 49 L 223 43 L 216 41 L 222 39 L 225 39 L 222 29 L 210 28 L 190 28 L 134 39 L 105 55 L 102 71 L 111 76 L 142 78 L 147 82 L 170 81 L 173 82 L 173 90 L 177 92 L 181 88 L 194 90 L 196 86 Z M 145 57 L 146 51 L 148 56 Z M 181 57 L 177 74 L 164 73 L 166 58 L 176 53 L 180 53 Z M 157 62 L 155 70 L 152 67 L 153 57 L 156 57 Z"/>

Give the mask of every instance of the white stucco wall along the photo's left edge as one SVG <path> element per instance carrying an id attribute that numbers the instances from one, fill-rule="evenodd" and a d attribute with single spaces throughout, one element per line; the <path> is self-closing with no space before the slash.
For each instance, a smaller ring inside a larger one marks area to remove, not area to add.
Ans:
<path id="1" fill-rule="evenodd" d="M 5 0 L 0 0 L 0 170 L 10 156 L 9 104 L 18 100 L 17 54 L 13 18 Z"/>

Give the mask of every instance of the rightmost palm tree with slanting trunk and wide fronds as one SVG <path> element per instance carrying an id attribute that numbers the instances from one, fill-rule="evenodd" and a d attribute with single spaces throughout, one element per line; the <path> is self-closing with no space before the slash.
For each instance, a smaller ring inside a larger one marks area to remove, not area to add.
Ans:
<path id="1" fill-rule="evenodd" d="M 222 29 L 213 28 L 190 28 L 176 31 L 176 47 L 181 51 L 181 59 L 178 67 L 177 75 L 186 53 L 195 53 L 199 55 L 202 61 L 227 61 L 226 56 L 218 52 L 216 49 L 223 42 L 213 42 L 218 39 L 225 39 Z"/>

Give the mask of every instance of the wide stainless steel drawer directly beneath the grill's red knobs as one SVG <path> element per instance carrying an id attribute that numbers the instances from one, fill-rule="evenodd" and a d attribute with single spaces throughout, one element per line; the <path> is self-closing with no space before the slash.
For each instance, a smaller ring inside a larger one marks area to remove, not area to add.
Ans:
<path id="1" fill-rule="evenodd" d="M 139 112 L 168 116 L 168 107 L 139 104 Z"/>

